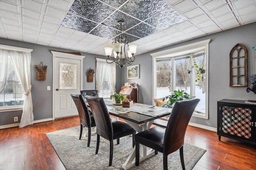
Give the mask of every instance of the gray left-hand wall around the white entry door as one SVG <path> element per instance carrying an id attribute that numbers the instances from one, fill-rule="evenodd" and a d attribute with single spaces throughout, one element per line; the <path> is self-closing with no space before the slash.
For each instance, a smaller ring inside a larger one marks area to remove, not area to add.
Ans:
<path id="1" fill-rule="evenodd" d="M 32 84 L 32 102 L 33 102 L 33 113 L 34 120 L 52 118 L 52 53 L 51 51 L 62 51 L 62 52 L 77 52 L 69 51 L 66 49 L 59 49 L 54 47 L 48 47 L 44 45 L 36 45 L 32 43 L 26 43 L 22 41 L 14 41 L 10 39 L 0 38 L 0 44 L 10 45 L 15 47 L 23 47 L 33 49 L 31 52 L 31 84 Z M 87 82 L 86 71 L 91 68 L 96 68 L 96 59 L 103 58 L 105 56 L 94 55 L 89 53 L 82 53 L 84 58 L 83 64 L 83 89 L 91 90 L 95 89 L 95 76 L 93 82 Z M 34 68 L 35 64 L 43 62 L 48 66 L 46 81 L 37 81 L 37 74 Z M 116 68 L 119 70 L 119 67 Z M 97 70 L 96 70 L 97 71 Z M 116 89 L 121 87 L 122 72 L 116 74 Z M 51 86 L 51 90 L 47 90 L 47 86 Z M 119 91 L 118 91 L 119 92 Z M 0 112 L 0 125 L 9 125 L 13 123 L 19 123 L 22 115 L 22 111 L 6 111 Z M 18 122 L 14 122 L 14 117 L 18 117 Z"/>

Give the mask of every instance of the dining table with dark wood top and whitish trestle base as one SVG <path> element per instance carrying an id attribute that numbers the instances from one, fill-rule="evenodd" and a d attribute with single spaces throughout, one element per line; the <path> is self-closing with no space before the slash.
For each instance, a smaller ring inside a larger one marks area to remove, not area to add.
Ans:
<path id="1" fill-rule="evenodd" d="M 112 105 L 113 103 L 108 100 L 105 100 L 105 103 L 108 106 L 110 115 L 114 115 L 116 117 L 120 117 L 120 118 L 124 119 L 124 121 L 126 121 L 129 125 L 131 125 L 137 132 L 142 132 L 146 129 L 149 129 L 155 119 L 170 115 L 170 113 L 171 113 L 171 109 L 169 109 L 169 108 L 158 107 L 158 106 L 150 107 L 149 105 L 143 105 L 143 104 L 140 104 L 141 110 L 142 109 L 146 110 L 146 108 L 148 108 L 148 110 L 150 109 L 150 113 L 153 114 L 154 117 L 144 115 L 144 114 L 134 112 L 134 111 L 128 111 L 126 113 L 115 113 L 115 112 L 111 111 L 111 109 L 109 109 L 110 107 L 113 106 Z M 145 106 L 145 107 L 143 107 L 143 106 Z M 125 109 L 132 109 L 132 107 L 136 107 L 136 103 L 133 106 L 131 106 L 131 108 L 124 108 L 122 106 L 119 106 L 118 108 L 122 108 L 125 110 Z M 159 114 L 160 112 L 162 112 L 162 113 Z M 154 155 L 154 150 L 153 149 L 147 150 L 147 147 L 145 147 L 144 145 L 140 145 L 140 150 L 141 150 L 140 156 L 142 157 L 142 158 L 140 158 L 140 161 L 148 158 L 149 156 Z M 126 162 L 124 164 L 122 164 L 122 168 L 128 169 L 134 165 L 135 165 L 135 147 L 132 149 Z"/>

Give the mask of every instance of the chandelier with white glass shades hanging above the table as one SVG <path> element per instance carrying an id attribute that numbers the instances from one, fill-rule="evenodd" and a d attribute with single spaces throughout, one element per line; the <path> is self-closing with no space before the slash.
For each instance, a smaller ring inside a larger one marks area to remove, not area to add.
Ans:
<path id="1" fill-rule="evenodd" d="M 118 21 L 118 24 L 120 25 L 120 35 L 115 38 L 115 41 L 112 42 L 112 45 L 114 47 L 114 61 L 110 59 L 110 56 L 112 54 L 111 47 L 105 47 L 105 54 L 108 57 L 106 59 L 107 63 L 116 63 L 119 65 L 121 69 L 123 69 L 124 64 L 132 64 L 135 60 L 134 54 L 136 53 L 137 45 L 128 45 L 130 43 L 129 40 L 126 39 L 125 35 L 122 35 L 122 25 L 124 24 L 124 21 Z M 123 50 L 122 50 L 123 45 Z M 127 50 L 127 54 L 125 51 L 125 47 L 129 47 L 129 50 Z M 122 58 L 122 55 L 124 55 L 124 58 Z"/>

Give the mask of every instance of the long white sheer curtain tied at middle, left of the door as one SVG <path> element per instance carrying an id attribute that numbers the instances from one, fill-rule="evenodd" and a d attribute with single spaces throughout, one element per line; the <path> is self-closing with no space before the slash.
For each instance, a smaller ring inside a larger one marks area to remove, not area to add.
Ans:
<path id="1" fill-rule="evenodd" d="M 16 76 L 25 92 L 23 112 L 20 119 L 20 127 L 25 127 L 32 125 L 34 121 L 30 79 L 31 54 L 21 51 L 8 51 L 8 53 Z"/>

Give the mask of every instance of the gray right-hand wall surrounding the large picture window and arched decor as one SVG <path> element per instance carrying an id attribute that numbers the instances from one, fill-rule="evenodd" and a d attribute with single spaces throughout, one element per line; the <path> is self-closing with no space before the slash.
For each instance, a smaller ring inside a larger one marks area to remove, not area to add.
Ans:
<path id="1" fill-rule="evenodd" d="M 207 35 L 184 43 L 179 43 L 162 49 L 150 51 L 141 55 L 136 55 L 134 64 L 140 64 L 140 79 L 127 80 L 127 66 L 123 68 L 123 80 L 125 82 L 136 82 L 139 88 L 139 102 L 144 104 L 152 104 L 152 57 L 150 53 L 164 51 L 182 45 L 187 45 L 206 39 L 211 39 L 209 43 L 209 119 L 192 117 L 192 123 L 198 123 L 210 127 L 217 127 L 217 101 L 222 99 L 235 100 L 256 100 L 256 94 L 247 93 L 246 87 L 230 87 L 229 86 L 229 53 L 230 50 L 240 43 L 244 45 L 248 51 L 248 77 L 255 74 L 255 51 L 251 51 L 250 47 L 256 45 L 256 22 Z M 137 49 L 139 51 L 140 49 Z M 251 83 L 248 82 L 248 86 Z M 166 94 L 166 96 L 169 94 Z"/>

